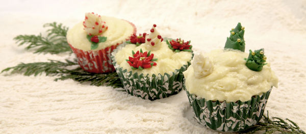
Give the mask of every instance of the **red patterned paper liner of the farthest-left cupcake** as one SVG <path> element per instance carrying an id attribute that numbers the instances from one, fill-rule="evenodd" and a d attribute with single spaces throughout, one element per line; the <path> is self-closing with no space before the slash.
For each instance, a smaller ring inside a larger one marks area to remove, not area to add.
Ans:
<path id="1" fill-rule="evenodd" d="M 136 26 L 131 22 L 129 23 L 134 28 L 133 34 L 136 34 Z M 126 40 L 129 40 L 129 39 L 126 39 Z M 111 53 L 114 49 L 116 49 L 116 47 L 120 43 L 106 47 L 104 49 L 84 51 L 78 48 L 74 48 L 68 42 L 72 51 L 77 56 L 78 63 L 81 66 L 81 68 L 87 72 L 93 72 L 93 73 L 106 73 L 106 72 L 115 71 L 115 68 L 112 64 Z"/>

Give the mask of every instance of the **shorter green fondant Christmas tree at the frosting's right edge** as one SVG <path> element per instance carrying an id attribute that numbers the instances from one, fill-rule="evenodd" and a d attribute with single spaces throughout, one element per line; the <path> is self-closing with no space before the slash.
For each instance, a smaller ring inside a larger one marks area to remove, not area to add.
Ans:
<path id="1" fill-rule="evenodd" d="M 261 71 L 263 69 L 263 66 L 266 65 L 265 62 L 267 60 L 267 57 L 264 55 L 264 48 L 249 51 L 249 56 L 247 59 L 245 59 L 245 65 L 253 71 Z"/>

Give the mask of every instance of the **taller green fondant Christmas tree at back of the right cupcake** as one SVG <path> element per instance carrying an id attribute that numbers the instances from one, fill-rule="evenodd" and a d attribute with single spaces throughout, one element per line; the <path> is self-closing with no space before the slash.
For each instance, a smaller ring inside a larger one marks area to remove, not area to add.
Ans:
<path id="1" fill-rule="evenodd" d="M 230 37 L 227 37 L 224 49 L 232 48 L 241 50 L 244 52 L 245 41 L 244 41 L 244 27 L 239 22 L 235 29 L 232 29 Z"/>

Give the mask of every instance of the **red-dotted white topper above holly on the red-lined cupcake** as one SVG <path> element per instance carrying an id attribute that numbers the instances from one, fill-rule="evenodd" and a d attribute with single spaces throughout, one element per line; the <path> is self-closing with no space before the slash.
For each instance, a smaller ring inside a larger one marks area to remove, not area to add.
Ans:
<path id="1" fill-rule="evenodd" d="M 102 21 L 101 16 L 94 13 L 85 13 L 83 26 L 86 33 L 90 36 L 100 35 L 108 29 L 105 21 Z"/>

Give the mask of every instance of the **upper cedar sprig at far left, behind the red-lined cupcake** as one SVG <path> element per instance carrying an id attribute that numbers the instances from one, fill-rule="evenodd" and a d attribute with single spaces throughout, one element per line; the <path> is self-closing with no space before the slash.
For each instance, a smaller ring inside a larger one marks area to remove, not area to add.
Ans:
<path id="1" fill-rule="evenodd" d="M 72 52 L 66 39 L 66 33 L 68 31 L 66 26 L 53 22 L 46 23 L 43 27 L 50 27 L 46 31 L 46 37 L 40 33 L 39 35 L 19 35 L 14 40 L 16 40 L 18 45 L 27 44 L 28 46 L 25 49 L 36 48 L 34 53 L 57 54 L 66 51 Z"/>

